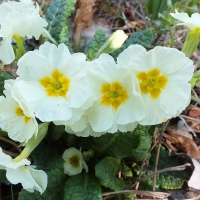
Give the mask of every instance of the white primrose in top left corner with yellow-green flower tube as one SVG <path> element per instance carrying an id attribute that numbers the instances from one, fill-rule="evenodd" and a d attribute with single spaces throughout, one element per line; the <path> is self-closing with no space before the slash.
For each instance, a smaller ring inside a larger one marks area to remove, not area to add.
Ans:
<path id="1" fill-rule="evenodd" d="M 39 6 L 36 7 L 32 4 L 23 3 L 22 10 L 20 6 L 16 6 L 16 10 L 12 6 L 7 5 L 5 2 L 0 5 L 0 10 L 4 10 L 2 15 L 2 21 L 0 22 L 0 60 L 5 64 L 10 64 L 15 59 L 15 54 L 12 48 L 12 41 L 17 43 L 16 55 L 20 58 L 26 51 L 23 46 L 23 38 L 39 39 L 39 36 L 43 33 L 44 27 L 48 24 L 45 19 L 39 15 Z M 20 2 L 15 2 L 16 4 Z M 18 4 L 17 4 L 18 5 Z M 6 9 L 6 8 L 7 9 Z M 29 8 L 30 7 L 30 8 Z"/>

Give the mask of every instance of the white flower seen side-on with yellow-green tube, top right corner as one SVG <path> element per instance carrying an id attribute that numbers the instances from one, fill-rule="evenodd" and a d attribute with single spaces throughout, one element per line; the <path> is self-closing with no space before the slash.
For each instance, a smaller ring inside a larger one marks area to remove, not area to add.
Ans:
<path id="1" fill-rule="evenodd" d="M 191 17 L 187 13 L 170 13 L 172 17 L 182 21 L 178 25 L 184 25 L 189 28 L 182 51 L 186 56 L 190 57 L 196 50 L 200 42 L 200 14 L 194 13 Z"/>

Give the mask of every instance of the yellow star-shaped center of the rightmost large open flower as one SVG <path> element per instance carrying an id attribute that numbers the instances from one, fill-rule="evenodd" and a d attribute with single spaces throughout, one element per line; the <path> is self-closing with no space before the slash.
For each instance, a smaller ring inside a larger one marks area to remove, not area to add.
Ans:
<path id="1" fill-rule="evenodd" d="M 137 74 L 140 80 L 140 89 L 142 94 L 150 93 L 150 97 L 156 99 L 160 96 L 162 89 L 165 88 L 168 79 L 160 73 L 160 70 L 154 68 L 148 72 Z"/>

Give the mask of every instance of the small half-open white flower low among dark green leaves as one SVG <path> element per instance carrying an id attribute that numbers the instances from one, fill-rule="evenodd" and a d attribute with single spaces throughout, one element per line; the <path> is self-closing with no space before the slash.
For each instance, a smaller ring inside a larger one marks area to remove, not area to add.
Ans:
<path id="1" fill-rule="evenodd" d="M 82 153 L 74 147 L 66 149 L 62 155 L 64 163 L 64 173 L 69 176 L 80 174 L 84 168 L 88 172 L 88 166 L 83 160 Z"/>

